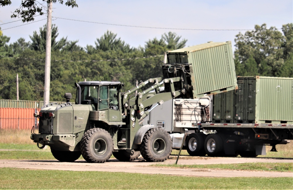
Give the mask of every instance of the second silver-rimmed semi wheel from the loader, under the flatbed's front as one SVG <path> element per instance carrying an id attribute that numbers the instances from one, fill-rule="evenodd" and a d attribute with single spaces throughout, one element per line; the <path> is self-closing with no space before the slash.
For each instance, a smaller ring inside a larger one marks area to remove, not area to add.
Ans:
<path id="1" fill-rule="evenodd" d="M 208 156 L 219 156 L 223 150 L 223 141 L 218 134 L 209 134 L 205 139 L 205 152 Z"/>

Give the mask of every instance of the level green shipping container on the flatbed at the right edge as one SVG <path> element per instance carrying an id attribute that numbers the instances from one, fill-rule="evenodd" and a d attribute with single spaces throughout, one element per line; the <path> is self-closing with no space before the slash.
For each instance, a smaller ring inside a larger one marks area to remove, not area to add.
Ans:
<path id="1" fill-rule="evenodd" d="M 247 115 L 244 115 L 244 120 L 293 124 L 293 78 L 256 76 L 238 77 L 238 80 L 244 80 L 246 88 L 246 102 L 243 103 Z M 239 120 L 237 116 L 240 113 L 235 114 L 236 120 Z"/>

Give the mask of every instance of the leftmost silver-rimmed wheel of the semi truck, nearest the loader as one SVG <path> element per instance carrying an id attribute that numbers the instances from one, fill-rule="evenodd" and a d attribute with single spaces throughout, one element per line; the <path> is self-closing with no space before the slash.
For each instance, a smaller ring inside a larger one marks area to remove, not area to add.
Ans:
<path id="1" fill-rule="evenodd" d="M 201 134 L 192 133 L 186 139 L 186 150 L 190 156 L 205 156 L 204 139 Z"/>

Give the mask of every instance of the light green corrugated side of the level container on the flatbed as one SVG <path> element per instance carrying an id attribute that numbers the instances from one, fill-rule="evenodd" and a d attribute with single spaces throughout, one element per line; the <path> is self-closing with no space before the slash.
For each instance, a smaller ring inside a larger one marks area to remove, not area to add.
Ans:
<path id="1" fill-rule="evenodd" d="M 293 124 L 293 78 L 256 77 L 255 122 Z"/>

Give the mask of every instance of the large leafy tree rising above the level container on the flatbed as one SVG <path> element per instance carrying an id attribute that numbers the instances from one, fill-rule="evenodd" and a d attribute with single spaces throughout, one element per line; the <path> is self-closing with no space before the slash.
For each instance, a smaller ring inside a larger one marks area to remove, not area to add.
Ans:
<path id="1" fill-rule="evenodd" d="M 287 55 L 292 52 L 291 30 L 292 24 L 283 25 L 284 34 L 276 27 L 267 29 L 266 24 L 263 24 L 255 25 L 253 31 L 237 34 L 234 55 L 239 58 L 240 64 L 236 66 L 242 64 L 244 68 L 248 69 L 245 64 L 248 59 L 250 59 L 248 62 L 252 63 L 253 58 L 259 75 L 279 76 L 278 73 L 284 64 L 284 59 L 287 59 Z"/>

